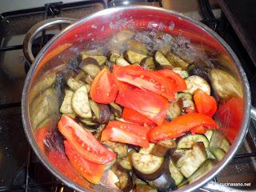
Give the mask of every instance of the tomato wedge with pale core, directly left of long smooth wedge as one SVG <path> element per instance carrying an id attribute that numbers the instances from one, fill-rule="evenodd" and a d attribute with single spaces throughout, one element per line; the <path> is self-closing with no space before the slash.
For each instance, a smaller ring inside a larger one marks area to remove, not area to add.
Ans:
<path id="1" fill-rule="evenodd" d="M 102 141 L 124 142 L 135 146 L 149 147 L 146 134 L 151 128 L 149 126 L 138 126 L 128 122 L 109 122 L 106 129 L 102 131 Z"/>

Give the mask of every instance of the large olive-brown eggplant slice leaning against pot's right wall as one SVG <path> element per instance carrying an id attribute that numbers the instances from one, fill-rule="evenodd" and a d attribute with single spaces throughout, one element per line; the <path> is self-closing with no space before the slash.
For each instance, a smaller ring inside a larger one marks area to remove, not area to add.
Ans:
<path id="1" fill-rule="evenodd" d="M 225 70 L 213 69 L 210 71 L 210 82 L 218 97 L 227 99 L 231 97 L 242 98 L 242 86 L 231 74 Z"/>

